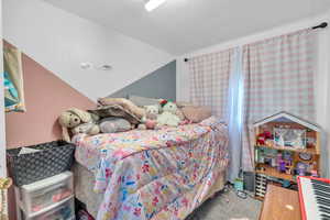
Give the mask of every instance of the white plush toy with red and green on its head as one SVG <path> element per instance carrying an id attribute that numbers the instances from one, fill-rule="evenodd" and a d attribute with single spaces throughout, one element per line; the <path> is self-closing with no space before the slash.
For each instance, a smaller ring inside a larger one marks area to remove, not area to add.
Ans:
<path id="1" fill-rule="evenodd" d="M 157 118 L 157 125 L 178 127 L 180 119 L 177 113 L 177 106 L 172 101 L 162 102 L 163 113 Z"/>

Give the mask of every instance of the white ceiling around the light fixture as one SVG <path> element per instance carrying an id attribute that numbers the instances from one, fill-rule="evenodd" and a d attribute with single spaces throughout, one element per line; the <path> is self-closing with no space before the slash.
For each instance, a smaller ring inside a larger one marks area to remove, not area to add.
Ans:
<path id="1" fill-rule="evenodd" d="M 168 53 L 180 55 L 324 12 L 330 0 L 44 0 Z M 88 30 L 87 30 L 88 31 Z"/>

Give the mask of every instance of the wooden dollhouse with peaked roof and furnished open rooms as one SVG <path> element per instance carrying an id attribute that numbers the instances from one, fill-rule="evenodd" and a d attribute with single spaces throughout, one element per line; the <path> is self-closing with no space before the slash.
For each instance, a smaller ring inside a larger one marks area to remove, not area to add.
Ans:
<path id="1" fill-rule="evenodd" d="M 321 129 L 288 112 L 253 124 L 255 197 L 263 199 L 267 184 L 296 188 L 297 176 L 320 176 Z"/>

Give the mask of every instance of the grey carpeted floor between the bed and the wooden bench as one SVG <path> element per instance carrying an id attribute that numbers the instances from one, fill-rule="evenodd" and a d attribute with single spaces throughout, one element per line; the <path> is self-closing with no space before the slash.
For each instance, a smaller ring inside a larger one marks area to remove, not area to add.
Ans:
<path id="1" fill-rule="evenodd" d="M 218 193 L 186 220 L 257 220 L 262 202 L 239 198 L 233 189 Z"/>

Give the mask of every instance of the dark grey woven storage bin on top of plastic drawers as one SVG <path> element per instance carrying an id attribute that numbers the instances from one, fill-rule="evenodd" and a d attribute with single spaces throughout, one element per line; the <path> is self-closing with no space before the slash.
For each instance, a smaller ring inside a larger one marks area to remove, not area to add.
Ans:
<path id="1" fill-rule="evenodd" d="M 41 151 L 19 155 L 22 147 L 7 150 L 9 172 L 16 186 L 31 184 L 69 170 L 74 162 L 75 145 L 65 141 L 25 147 Z"/>

